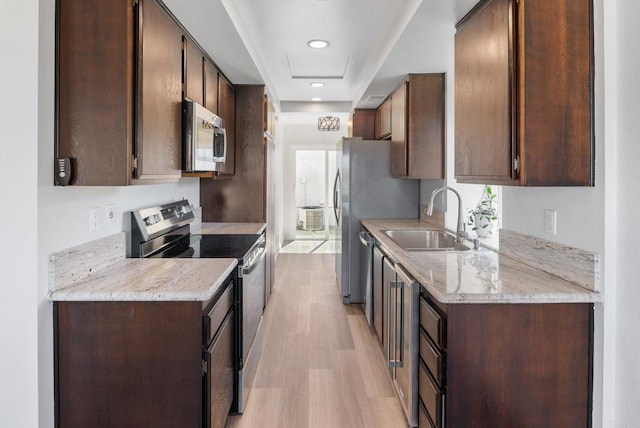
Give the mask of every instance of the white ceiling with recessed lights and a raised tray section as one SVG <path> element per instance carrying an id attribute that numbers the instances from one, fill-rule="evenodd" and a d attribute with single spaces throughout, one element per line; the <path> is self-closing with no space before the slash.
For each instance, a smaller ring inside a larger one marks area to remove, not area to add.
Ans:
<path id="1" fill-rule="evenodd" d="M 164 0 L 234 84 L 267 86 L 283 112 L 375 108 L 430 62 L 478 0 Z M 307 41 L 324 39 L 326 49 Z M 437 56 L 436 56 L 437 57 Z M 322 81 L 323 88 L 309 83 Z M 312 97 L 323 102 L 312 103 Z M 369 97 L 372 97 L 369 101 Z"/>

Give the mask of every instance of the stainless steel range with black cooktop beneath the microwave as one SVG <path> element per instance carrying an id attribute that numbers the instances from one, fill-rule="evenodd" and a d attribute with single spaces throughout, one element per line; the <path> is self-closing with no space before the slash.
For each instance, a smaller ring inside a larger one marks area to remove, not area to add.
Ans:
<path id="1" fill-rule="evenodd" d="M 232 411 L 242 413 L 262 353 L 265 236 L 191 234 L 187 200 L 131 212 L 130 257 L 235 258 L 236 381 Z"/>

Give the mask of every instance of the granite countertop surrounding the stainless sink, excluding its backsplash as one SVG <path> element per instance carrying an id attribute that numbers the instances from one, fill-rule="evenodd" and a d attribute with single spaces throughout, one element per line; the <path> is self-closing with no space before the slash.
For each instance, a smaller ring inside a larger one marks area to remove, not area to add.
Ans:
<path id="1" fill-rule="evenodd" d="M 405 251 L 384 230 L 426 229 L 420 220 L 363 219 L 362 224 L 442 303 L 587 303 L 601 294 L 466 242 L 469 251 Z"/>

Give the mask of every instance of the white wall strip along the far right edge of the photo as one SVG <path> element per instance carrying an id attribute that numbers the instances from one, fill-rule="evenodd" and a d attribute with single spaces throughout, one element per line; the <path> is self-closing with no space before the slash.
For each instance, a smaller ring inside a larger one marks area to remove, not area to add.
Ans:
<path id="1" fill-rule="evenodd" d="M 640 4 L 618 0 L 617 11 L 617 301 L 614 427 L 640 427 Z M 608 286 L 608 284 L 607 284 Z"/>

